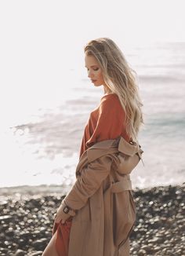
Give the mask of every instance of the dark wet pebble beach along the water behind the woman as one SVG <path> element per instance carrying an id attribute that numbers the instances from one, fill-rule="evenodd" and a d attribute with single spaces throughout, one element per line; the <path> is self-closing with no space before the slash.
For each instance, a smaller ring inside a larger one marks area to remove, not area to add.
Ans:
<path id="1" fill-rule="evenodd" d="M 41 256 L 52 236 L 60 186 L 0 188 L 0 255 Z M 135 188 L 130 255 L 185 256 L 185 183 Z"/>

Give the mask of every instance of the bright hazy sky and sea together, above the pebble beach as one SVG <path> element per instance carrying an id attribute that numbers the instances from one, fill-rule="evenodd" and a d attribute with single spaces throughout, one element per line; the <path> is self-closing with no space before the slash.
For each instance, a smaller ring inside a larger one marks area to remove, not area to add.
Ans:
<path id="1" fill-rule="evenodd" d="M 109 37 L 138 75 L 145 126 L 132 187 L 177 185 L 185 174 L 183 1 L 0 2 L 0 188 L 61 185 L 75 167 L 103 86 L 84 46 Z"/>

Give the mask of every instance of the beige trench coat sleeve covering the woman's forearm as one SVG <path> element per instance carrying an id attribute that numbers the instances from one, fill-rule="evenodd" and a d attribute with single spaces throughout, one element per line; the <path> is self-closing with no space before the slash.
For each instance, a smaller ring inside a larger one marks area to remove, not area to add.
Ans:
<path id="1" fill-rule="evenodd" d="M 89 163 L 78 176 L 71 191 L 65 197 L 65 203 L 72 210 L 79 210 L 85 206 L 90 196 L 96 192 L 111 170 L 110 155 L 103 155 Z"/>

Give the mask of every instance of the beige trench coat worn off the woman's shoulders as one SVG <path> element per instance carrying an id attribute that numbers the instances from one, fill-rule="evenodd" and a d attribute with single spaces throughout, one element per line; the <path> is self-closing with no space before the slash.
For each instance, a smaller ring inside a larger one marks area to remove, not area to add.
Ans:
<path id="1" fill-rule="evenodd" d="M 68 256 L 128 256 L 129 235 L 136 221 L 129 174 L 118 173 L 119 152 L 138 147 L 123 137 L 93 144 L 81 156 L 77 180 L 65 197 L 75 210 Z"/>

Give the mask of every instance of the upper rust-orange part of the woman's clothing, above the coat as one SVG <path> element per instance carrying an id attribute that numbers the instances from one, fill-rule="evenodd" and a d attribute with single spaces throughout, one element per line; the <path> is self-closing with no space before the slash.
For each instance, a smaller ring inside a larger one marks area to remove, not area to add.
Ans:
<path id="1" fill-rule="evenodd" d="M 82 138 L 82 153 L 94 143 L 122 136 L 129 141 L 125 132 L 125 112 L 115 93 L 104 95 L 100 105 L 91 112 Z"/>

